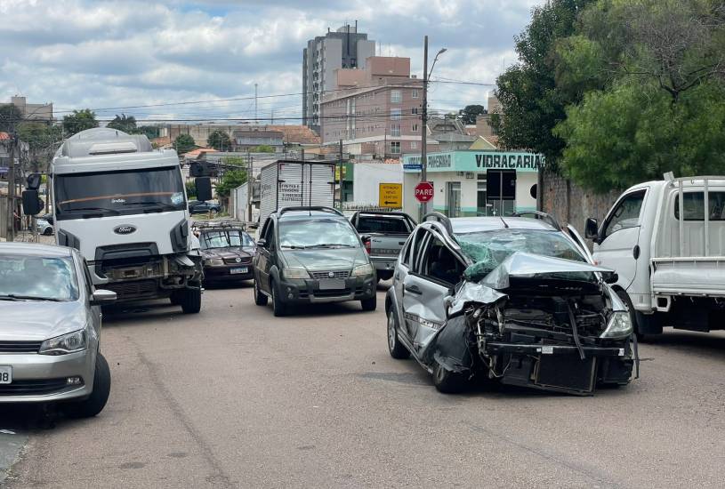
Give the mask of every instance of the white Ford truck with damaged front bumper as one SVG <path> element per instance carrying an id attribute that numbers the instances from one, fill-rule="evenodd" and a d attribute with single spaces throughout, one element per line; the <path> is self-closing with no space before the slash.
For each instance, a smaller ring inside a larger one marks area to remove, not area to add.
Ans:
<path id="1" fill-rule="evenodd" d="M 51 179 L 56 242 L 83 254 L 94 284 L 118 301 L 170 298 L 199 311 L 202 258 L 176 151 L 89 129 L 60 146 Z"/>

